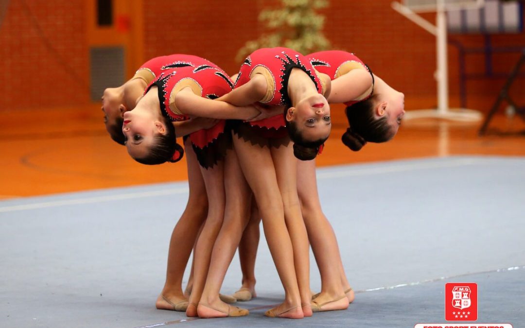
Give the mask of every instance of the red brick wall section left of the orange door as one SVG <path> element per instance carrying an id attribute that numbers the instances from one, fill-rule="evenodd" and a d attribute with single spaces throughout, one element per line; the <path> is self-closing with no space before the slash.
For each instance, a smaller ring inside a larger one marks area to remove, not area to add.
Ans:
<path id="1" fill-rule="evenodd" d="M 9 1 L 0 25 L 0 110 L 89 103 L 83 4 Z"/>

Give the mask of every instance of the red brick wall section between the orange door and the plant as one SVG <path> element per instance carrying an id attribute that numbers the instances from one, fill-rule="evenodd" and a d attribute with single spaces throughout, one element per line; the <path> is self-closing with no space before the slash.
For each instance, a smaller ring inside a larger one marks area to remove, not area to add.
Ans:
<path id="1" fill-rule="evenodd" d="M 258 36 L 263 1 L 158 0 L 144 3 L 144 58 L 192 54 L 213 61 L 229 74 L 240 63 L 235 56 Z"/>

